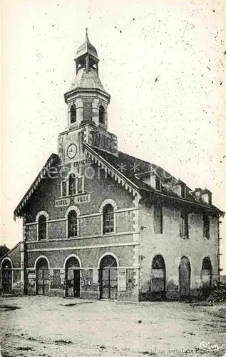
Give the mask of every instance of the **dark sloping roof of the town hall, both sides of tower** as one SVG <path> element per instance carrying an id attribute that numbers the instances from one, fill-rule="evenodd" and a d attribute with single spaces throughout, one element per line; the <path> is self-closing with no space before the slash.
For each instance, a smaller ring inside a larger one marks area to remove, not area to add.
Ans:
<path id="1" fill-rule="evenodd" d="M 168 182 L 173 180 L 174 183 L 181 183 L 182 181 L 178 181 L 174 176 L 170 175 L 160 166 L 156 166 L 155 164 L 151 164 L 148 161 L 138 159 L 135 156 L 125 154 L 122 151 L 118 151 L 118 156 L 115 156 L 86 143 L 83 143 L 83 146 L 88 151 L 90 151 L 91 154 L 96 155 L 98 160 L 103 161 L 103 165 L 108 166 L 109 171 L 113 170 L 116 176 L 121 177 L 122 180 L 130 185 L 133 190 L 138 191 L 141 196 L 145 197 L 145 199 L 148 199 L 151 194 L 155 196 L 162 196 L 163 198 L 168 198 L 173 201 L 184 201 L 195 206 L 200 206 L 202 208 L 215 211 L 215 213 L 220 214 L 220 216 L 224 215 L 224 212 L 220 211 L 219 208 L 212 204 L 205 203 L 204 201 L 193 196 L 191 193 L 192 190 L 188 186 L 186 186 L 186 198 L 182 198 L 177 193 L 175 193 L 170 188 Z M 16 218 L 16 216 L 21 216 L 21 211 L 23 211 L 24 204 L 29 200 L 29 197 L 32 195 L 32 193 L 45 179 L 45 172 L 51 165 L 57 165 L 58 160 L 58 155 L 51 154 L 51 156 L 46 161 L 46 164 L 43 166 L 43 169 L 41 169 L 38 176 L 29 187 L 29 190 L 26 191 L 24 197 L 21 199 L 18 206 L 16 206 L 14 211 L 14 218 Z M 148 178 L 151 172 L 155 173 L 155 175 L 160 179 L 160 182 L 162 183 L 161 191 L 156 190 L 148 183 L 143 181 L 143 178 Z"/>

